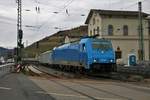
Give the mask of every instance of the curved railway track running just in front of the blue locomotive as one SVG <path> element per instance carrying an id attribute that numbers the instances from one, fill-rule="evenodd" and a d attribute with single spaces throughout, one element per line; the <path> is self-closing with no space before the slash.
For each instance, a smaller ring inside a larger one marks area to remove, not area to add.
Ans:
<path id="1" fill-rule="evenodd" d="M 109 79 L 109 80 L 119 80 L 119 81 L 129 81 L 129 82 L 137 82 L 143 80 L 142 76 L 136 76 L 132 78 L 132 74 L 128 73 L 100 73 L 100 74 L 79 74 L 79 73 L 70 73 L 70 72 L 62 72 L 60 70 L 56 70 L 53 68 L 45 67 L 45 66 L 34 66 L 33 67 L 43 73 L 49 74 L 55 78 L 71 78 L 71 79 L 93 79 L 93 80 L 101 80 L 101 79 Z"/>

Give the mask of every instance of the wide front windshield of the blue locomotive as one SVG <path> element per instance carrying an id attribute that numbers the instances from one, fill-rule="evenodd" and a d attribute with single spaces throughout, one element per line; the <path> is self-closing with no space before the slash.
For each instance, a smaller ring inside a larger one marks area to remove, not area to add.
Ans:
<path id="1" fill-rule="evenodd" d="M 93 41 L 92 47 L 93 49 L 109 50 L 112 48 L 112 45 L 109 41 Z"/>

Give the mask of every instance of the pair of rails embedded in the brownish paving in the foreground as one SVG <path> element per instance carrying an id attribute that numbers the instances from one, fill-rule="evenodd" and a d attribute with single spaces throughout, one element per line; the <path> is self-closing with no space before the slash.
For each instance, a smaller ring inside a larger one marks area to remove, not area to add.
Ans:
<path id="1" fill-rule="evenodd" d="M 51 74 L 50 74 L 50 75 L 51 75 Z M 64 88 L 66 88 L 66 89 L 68 89 L 68 90 L 71 90 L 71 91 L 73 91 L 73 92 L 75 92 L 75 93 L 80 94 L 80 95 L 81 95 L 80 97 L 88 98 L 88 99 L 90 99 L 90 100 L 105 100 L 105 98 L 98 98 L 98 97 L 92 96 L 92 95 L 86 93 L 85 91 L 81 91 L 81 90 L 78 90 L 78 89 L 76 89 L 76 88 L 73 88 L 72 86 L 66 85 L 66 84 L 64 84 L 64 83 L 62 83 L 62 82 L 59 82 L 59 81 L 57 81 L 56 79 L 53 79 L 53 78 L 51 78 L 51 77 L 50 77 L 50 78 L 47 77 L 47 78 L 48 78 L 48 80 L 50 80 L 50 81 L 53 82 L 54 84 L 57 84 L 57 85 L 59 85 L 59 86 L 61 86 L 61 87 L 64 87 Z M 65 81 L 65 80 L 64 80 L 64 81 Z M 68 81 L 68 80 L 66 80 L 66 81 Z M 106 93 L 106 94 L 108 94 L 108 95 L 113 95 L 113 96 L 116 96 L 116 97 L 121 98 L 121 99 L 118 99 L 118 100 L 132 100 L 132 99 L 129 98 L 129 97 L 125 97 L 125 96 L 122 96 L 122 95 L 118 95 L 118 94 L 115 94 L 115 93 L 113 93 L 113 92 L 109 92 L 109 91 L 106 91 L 106 90 L 103 90 L 103 89 L 95 88 L 95 87 L 93 87 L 93 86 L 84 84 L 84 83 L 82 83 L 82 82 L 80 82 L 80 81 L 77 82 L 77 81 L 74 81 L 74 80 L 69 80 L 69 82 L 71 82 L 71 84 L 79 85 L 79 86 L 81 86 L 82 88 L 89 88 L 89 89 L 92 89 L 92 90 L 94 90 L 94 91 L 103 92 L 103 93 Z M 85 81 L 85 82 L 86 82 L 86 81 Z M 111 100 L 117 100 L 117 99 L 111 99 Z"/>

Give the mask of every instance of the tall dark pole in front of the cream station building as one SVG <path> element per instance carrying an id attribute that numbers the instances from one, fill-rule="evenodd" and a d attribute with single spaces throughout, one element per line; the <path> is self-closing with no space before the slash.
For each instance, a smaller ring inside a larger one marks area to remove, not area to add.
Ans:
<path id="1" fill-rule="evenodd" d="M 138 2 L 138 8 L 139 8 L 139 60 L 143 61 L 145 60 L 145 54 L 144 54 L 144 39 L 143 39 L 143 16 L 142 16 L 142 3 Z"/>

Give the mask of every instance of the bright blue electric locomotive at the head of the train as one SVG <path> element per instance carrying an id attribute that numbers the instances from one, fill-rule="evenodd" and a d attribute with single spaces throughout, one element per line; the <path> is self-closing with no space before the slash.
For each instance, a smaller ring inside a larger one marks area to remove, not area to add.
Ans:
<path id="1" fill-rule="evenodd" d="M 115 52 L 105 39 L 83 38 L 78 42 L 56 47 L 51 55 L 54 65 L 95 71 L 114 71 Z"/>

